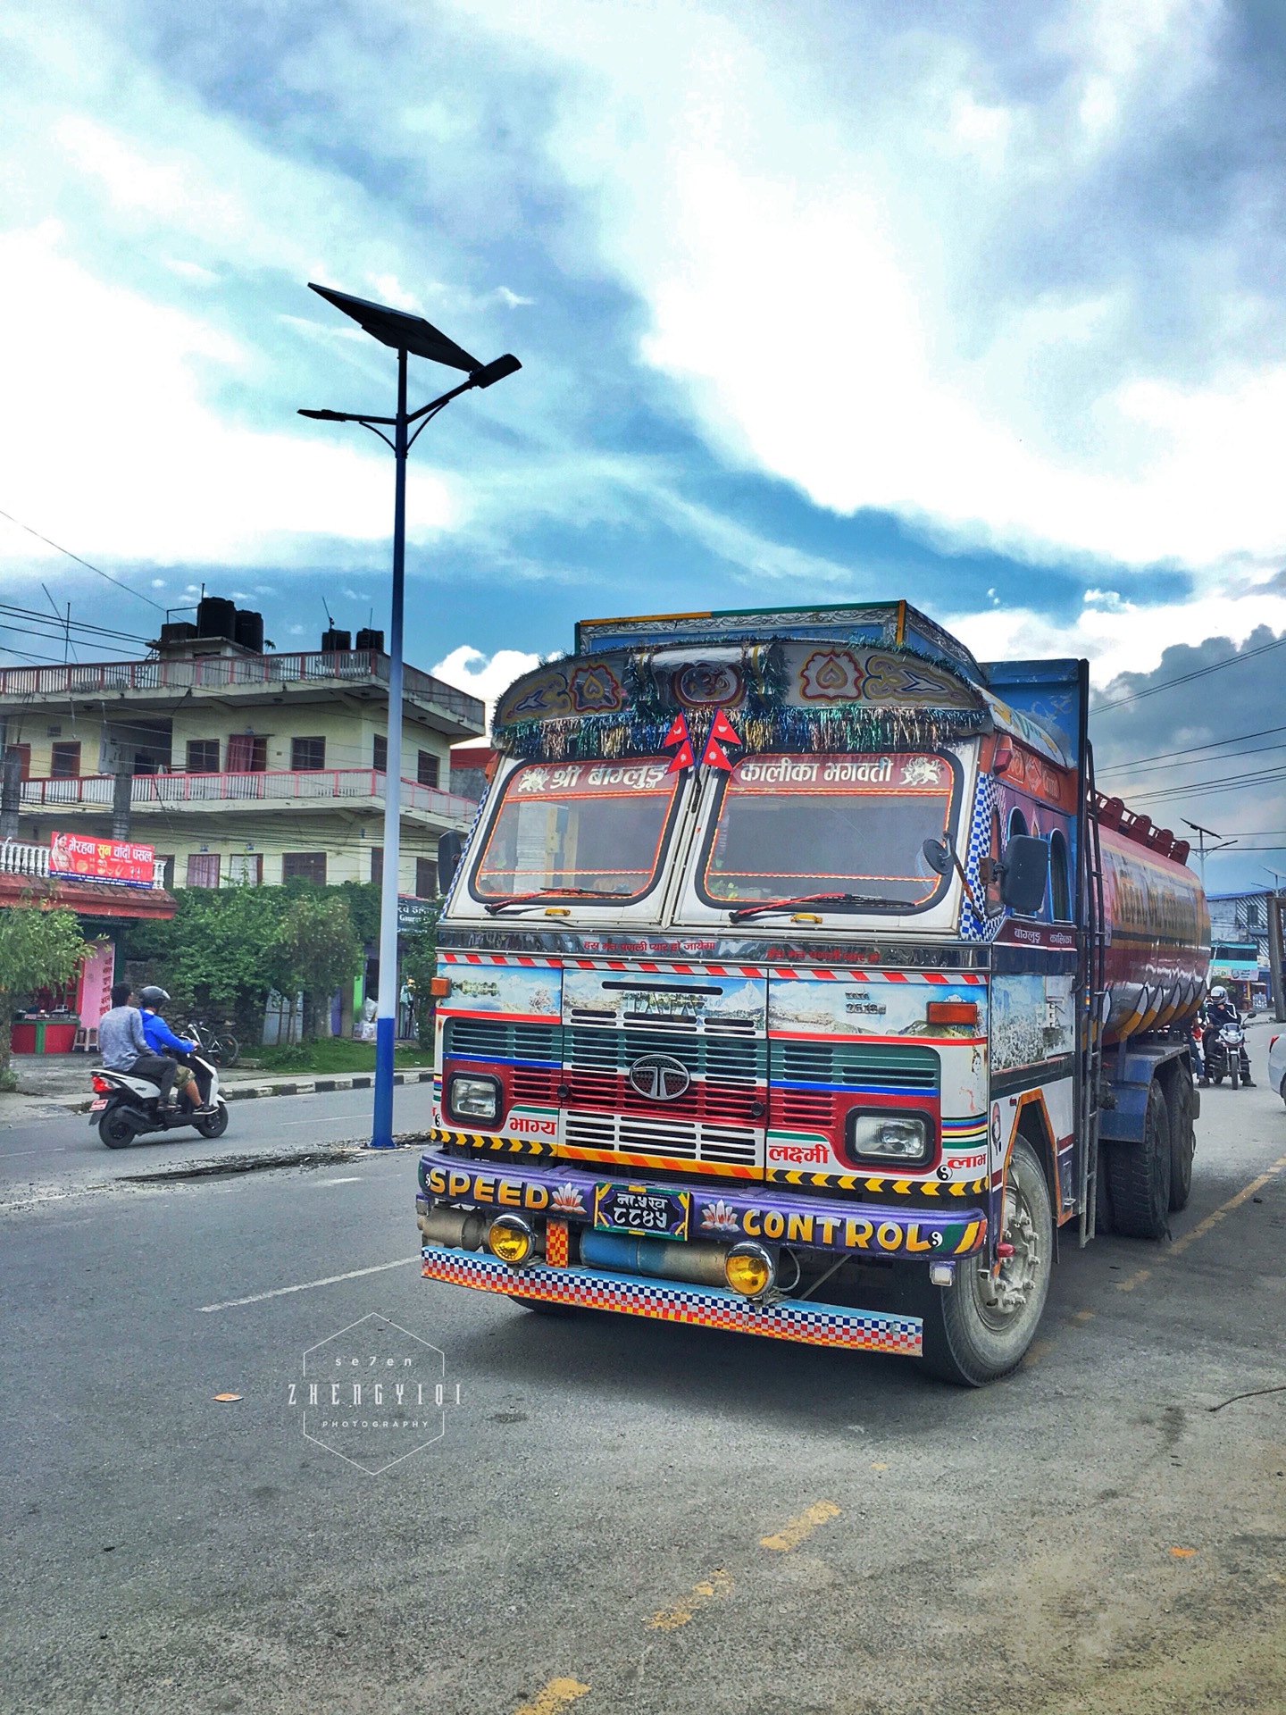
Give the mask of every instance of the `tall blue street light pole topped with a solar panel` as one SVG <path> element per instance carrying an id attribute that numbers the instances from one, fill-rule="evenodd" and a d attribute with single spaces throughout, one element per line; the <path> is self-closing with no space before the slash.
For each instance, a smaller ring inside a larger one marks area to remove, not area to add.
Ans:
<path id="1" fill-rule="evenodd" d="M 374 340 L 391 346 L 398 353 L 398 412 L 394 417 L 372 417 L 362 412 L 300 412 L 300 417 L 312 417 L 322 422 L 362 424 L 393 449 L 394 487 L 393 487 L 393 602 L 389 611 L 389 715 L 388 715 L 388 756 L 384 763 L 384 873 L 379 890 L 379 998 L 376 1003 L 376 1099 L 370 1127 L 372 1149 L 393 1149 L 393 1048 L 398 1034 L 398 1002 L 401 983 L 398 979 L 398 870 L 401 847 L 401 652 L 403 652 L 403 593 L 406 585 L 406 454 L 420 437 L 420 430 L 444 410 L 451 400 L 468 393 L 470 388 L 490 388 L 494 382 L 513 376 L 523 365 L 516 357 L 506 353 L 490 364 L 480 364 L 470 357 L 463 346 L 456 345 L 444 333 L 424 321 L 420 316 L 408 316 L 405 310 L 389 309 L 384 304 L 369 304 L 346 292 L 333 292 L 329 286 L 310 286 L 345 316 L 352 316 Z M 422 405 L 417 412 L 406 410 L 406 358 L 427 357 L 436 364 L 468 372 L 468 381 L 449 393 Z M 415 434 L 410 425 L 418 422 Z M 393 439 L 384 429 L 393 429 Z"/>

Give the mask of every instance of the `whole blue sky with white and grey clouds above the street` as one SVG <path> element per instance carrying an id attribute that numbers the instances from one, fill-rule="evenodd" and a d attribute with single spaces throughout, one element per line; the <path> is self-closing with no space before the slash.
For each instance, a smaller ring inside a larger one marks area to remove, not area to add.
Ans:
<path id="1" fill-rule="evenodd" d="M 1192 753 L 1286 725 L 1274 0 L 9 0 L 0 50 L 5 600 L 386 623 L 389 456 L 295 412 L 393 358 L 315 280 L 523 362 L 415 448 L 410 660 L 902 595 L 1104 705 L 1240 650 L 1101 767 L 1240 839 L 1212 888 L 1286 863 L 1286 791 L 1216 791 L 1286 734 Z"/>

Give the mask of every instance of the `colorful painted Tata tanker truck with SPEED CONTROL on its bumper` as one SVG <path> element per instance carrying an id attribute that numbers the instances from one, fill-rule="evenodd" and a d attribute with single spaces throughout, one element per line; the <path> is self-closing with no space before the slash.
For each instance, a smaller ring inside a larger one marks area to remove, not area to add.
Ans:
<path id="1" fill-rule="evenodd" d="M 1087 701 L 905 602 L 583 621 L 439 849 L 424 1274 L 1012 1370 L 1192 1182 L 1205 900 Z"/>

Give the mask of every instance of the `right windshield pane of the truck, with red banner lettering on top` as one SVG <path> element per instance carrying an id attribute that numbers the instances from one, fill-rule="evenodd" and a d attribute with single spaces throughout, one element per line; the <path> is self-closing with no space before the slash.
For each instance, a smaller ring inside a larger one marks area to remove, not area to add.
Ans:
<path id="1" fill-rule="evenodd" d="M 952 839 L 955 780 L 940 753 L 746 756 L 724 787 L 700 892 L 732 909 L 814 894 L 838 911 L 919 911 L 950 885 L 921 847 Z"/>

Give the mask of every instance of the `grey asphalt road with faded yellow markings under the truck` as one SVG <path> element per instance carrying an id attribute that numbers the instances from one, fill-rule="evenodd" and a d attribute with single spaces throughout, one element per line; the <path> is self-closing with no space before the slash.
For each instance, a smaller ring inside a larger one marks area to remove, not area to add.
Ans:
<path id="1" fill-rule="evenodd" d="M 1286 1110 L 1209 1091 L 1199 1137 L 1175 1243 L 1065 1250 L 965 1393 L 422 1281 L 413 1151 L 137 1183 L 213 1146 L 7 1134 L 0 1708 L 1276 1715 Z M 290 1387 L 377 1319 L 444 1351 L 444 1434 L 367 1475 Z"/>

